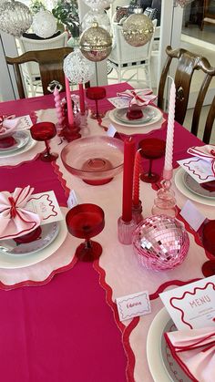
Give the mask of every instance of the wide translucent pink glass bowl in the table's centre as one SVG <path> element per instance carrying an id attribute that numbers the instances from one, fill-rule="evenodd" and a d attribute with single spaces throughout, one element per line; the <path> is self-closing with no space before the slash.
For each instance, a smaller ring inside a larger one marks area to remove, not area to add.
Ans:
<path id="1" fill-rule="evenodd" d="M 95 136 L 73 140 L 61 151 L 66 169 L 88 184 L 111 181 L 123 169 L 123 142 Z"/>

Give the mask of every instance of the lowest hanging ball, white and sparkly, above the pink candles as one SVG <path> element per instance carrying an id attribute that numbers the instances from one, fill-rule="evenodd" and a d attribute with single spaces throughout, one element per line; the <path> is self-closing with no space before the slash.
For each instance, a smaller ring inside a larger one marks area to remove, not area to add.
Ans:
<path id="1" fill-rule="evenodd" d="M 85 84 L 94 75 L 95 65 L 76 49 L 65 58 L 64 72 L 73 85 Z"/>

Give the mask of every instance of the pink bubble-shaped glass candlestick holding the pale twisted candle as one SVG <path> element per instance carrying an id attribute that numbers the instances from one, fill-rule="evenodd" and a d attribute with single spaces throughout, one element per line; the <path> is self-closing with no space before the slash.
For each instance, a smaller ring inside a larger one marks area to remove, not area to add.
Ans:
<path id="1" fill-rule="evenodd" d="M 161 181 L 161 188 L 151 210 L 153 215 L 165 214 L 175 217 L 177 214 L 175 192 L 171 190 L 171 181 Z"/>

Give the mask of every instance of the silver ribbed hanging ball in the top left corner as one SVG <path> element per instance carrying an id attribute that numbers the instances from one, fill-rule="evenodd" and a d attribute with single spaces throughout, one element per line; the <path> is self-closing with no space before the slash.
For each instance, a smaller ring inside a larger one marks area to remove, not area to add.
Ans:
<path id="1" fill-rule="evenodd" d="M 20 37 L 32 25 L 30 9 L 19 1 L 5 1 L 0 5 L 0 30 Z"/>

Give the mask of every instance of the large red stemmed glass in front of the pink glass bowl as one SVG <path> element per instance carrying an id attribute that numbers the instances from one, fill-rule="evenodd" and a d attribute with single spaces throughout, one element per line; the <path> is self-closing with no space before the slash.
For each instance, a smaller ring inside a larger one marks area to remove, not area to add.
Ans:
<path id="1" fill-rule="evenodd" d="M 96 204 L 78 204 L 67 212 L 67 230 L 73 236 L 85 239 L 76 250 L 76 256 L 83 262 L 92 262 L 102 253 L 102 246 L 91 240 L 105 226 L 105 214 Z"/>

